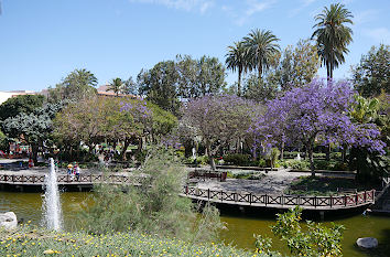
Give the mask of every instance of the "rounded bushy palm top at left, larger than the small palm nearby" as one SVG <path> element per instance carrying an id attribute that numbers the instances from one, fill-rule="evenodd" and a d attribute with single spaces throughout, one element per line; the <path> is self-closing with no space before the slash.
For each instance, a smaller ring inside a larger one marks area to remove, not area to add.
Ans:
<path id="1" fill-rule="evenodd" d="M 71 72 L 54 88 L 48 88 L 48 100 L 56 103 L 64 99 L 79 100 L 96 94 L 96 76 L 85 69 L 75 69 Z"/>

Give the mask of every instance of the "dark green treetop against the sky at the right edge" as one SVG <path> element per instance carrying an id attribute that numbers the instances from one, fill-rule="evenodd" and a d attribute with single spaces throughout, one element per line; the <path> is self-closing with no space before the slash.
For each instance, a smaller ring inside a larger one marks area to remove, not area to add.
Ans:
<path id="1" fill-rule="evenodd" d="M 355 87 L 364 97 L 390 94 L 390 45 L 372 46 L 353 69 Z"/>

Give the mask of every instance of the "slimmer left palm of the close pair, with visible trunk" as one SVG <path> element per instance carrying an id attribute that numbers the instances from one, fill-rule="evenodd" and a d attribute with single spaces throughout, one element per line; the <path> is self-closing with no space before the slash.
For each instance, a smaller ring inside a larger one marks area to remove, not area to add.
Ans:
<path id="1" fill-rule="evenodd" d="M 226 54 L 226 65 L 227 68 L 232 72 L 238 71 L 238 86 L 237 95 L 241 95 L 241 75 L 242 72 L 247 72 L 249 68 L 249 62 L 247 56 L 247 50 L 243 42 L 235 42 L 235 45 L 228 46 L 228 53 Z"/>

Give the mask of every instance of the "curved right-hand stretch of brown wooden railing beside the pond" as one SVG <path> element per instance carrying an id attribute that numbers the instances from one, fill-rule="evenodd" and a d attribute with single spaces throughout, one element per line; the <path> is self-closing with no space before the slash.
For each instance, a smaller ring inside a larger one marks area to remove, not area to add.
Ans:
<path id="1" fill-rule="evenodd" d="M 183 194 L 193 199 L 205 200 L 210 202 L 234 202 L 236 204 L 260 204 L 264 206 L 301 205 L 310 207 L 337 208 L 375 203 L 375 190 L 346 195 L 310 196 L 238 193 L 209 189 L 198 189 L 186 185 L 183 189 Z"/>

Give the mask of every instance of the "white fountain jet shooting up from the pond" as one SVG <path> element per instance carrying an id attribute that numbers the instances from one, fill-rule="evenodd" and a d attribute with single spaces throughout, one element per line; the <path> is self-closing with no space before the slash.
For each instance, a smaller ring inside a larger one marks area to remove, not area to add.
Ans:
<path id="1" fill-rule="evenodd" d="M 53 158 L 50 159 L 50 173 L 45 175 L 45 194 L 42 203 L 43 224 L 48 229 L 61 231 L 62 211 L 57 174 Z"/>

